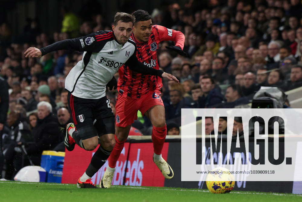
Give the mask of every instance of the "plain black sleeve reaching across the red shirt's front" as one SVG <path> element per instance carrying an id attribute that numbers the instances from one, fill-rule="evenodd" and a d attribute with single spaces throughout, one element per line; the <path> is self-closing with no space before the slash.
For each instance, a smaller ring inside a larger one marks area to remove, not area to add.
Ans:
<path id="1" fill-rule="evenodd" d="M 129 69 L 131 69 L 132 71 L 136 71 L 142 75 L 155 75 L 155 76 L 162 77 L 162 73 L 164 73 L 164 71 L 162 70 L 149 68 L 146 65 L 143 65 L 141 62 L 139 62 L 136 57 L 136 48 L 133 55 L 131 55 L 131 57 L 127 60 L 125 65 L 127 65 Z"/>

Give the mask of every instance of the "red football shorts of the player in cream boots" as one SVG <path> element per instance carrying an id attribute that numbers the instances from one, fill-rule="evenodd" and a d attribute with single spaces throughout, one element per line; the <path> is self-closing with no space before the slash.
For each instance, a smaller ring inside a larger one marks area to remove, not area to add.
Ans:
<path id="1" fill-rule="evenodd" d="M 119 95 L 115 105 L 115 123 L 120 127 L 131 125 L 137 119 L 138 110 L 144 115 L 155 105 L 164 106 L 159 91 L 150 91 L 137 99 L 125 98 Z"/>

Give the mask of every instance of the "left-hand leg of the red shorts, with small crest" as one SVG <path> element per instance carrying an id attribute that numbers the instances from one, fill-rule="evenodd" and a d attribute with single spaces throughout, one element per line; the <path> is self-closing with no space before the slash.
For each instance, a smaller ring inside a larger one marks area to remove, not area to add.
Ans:
<path id="1" fill-rule="evenodd" d="M 138 99 L 129 99 L 119 96 L 115 105 L 115 124 L 118 127 L 127 127 L 137 119 Z"/>

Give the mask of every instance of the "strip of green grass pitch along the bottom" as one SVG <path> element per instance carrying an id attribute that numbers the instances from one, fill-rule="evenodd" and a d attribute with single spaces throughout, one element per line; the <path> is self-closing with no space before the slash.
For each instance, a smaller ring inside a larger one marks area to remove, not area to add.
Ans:
<path id="1" fill-rule="evenodd" d="M 246 192 L 212 194 L 208 190 L 113 186 L 110 189 L 79 189 L 75 184 L 0 182 L 0 201 L 302 201 L 302 195 Z"/>

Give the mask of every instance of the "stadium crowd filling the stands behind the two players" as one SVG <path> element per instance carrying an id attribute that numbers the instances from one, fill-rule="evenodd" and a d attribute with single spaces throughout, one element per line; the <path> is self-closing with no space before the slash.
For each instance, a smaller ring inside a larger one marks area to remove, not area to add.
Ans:
<path id="1" fill-rule="evenodd" d="M 24 151 L 35 164 L 43 150 L 64 151 L 64 127 L 72 122 L 65 78 L 82 60 L 81 52 L 60 50 L 28 59 L 24 51 L 111 29 L 112 22 L 104 22 L 101 14 L 82 22 L 64 11 L 62 30 L 54 33 L 44 33 L 35 19 L 28 19 L 21 36 L 7 23 L 0 25 L 0 76 L 9 88 L 7 117 L 3 115 L 5 98 L 0 102 L 0 175 L 5 162 L 6 179 L 23 166 Z M 179 134 L 181 108 L 235 108 L 250 103 L 261 86 L 283 91 L 302 86 L 301 13 L 299 0 L 188 0 L 182 7 L 174 3 L 155 8 L 153 24 L 182 31 L 189 56 L 168 51 L 165 46 L 172 45 L 168 41 L 159 44 L 155 62 L 181 81 L 163 79 L 168 135 Z M 1 83 L 0 91 L 5 86 Z M 117 92 L 108 91 L 107 96 L 115 111 Z M 138 114 L 131 131 L 150 135 L 150 126 Z"/>

